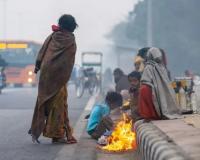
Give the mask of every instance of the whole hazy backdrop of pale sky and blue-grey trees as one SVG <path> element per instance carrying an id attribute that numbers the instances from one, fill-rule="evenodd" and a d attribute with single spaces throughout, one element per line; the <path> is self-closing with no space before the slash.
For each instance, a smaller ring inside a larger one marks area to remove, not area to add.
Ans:
<path id="1" fill-rule="evenodd" d="M 174 76 L 186 69 L 199 74 L 199 6 L 200 0 L 0 0 L 0 39 L 43 42 L 51 25 L 70 13 L 79 24 L 76 63 L 83 51 L 101 51 L 104 68 L 128 73 L 137 50 L 148 46 L 149 31 Z"/>

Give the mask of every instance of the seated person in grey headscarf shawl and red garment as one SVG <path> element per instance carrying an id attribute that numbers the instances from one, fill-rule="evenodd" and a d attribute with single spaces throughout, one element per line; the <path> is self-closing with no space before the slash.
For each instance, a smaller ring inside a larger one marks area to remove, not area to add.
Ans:
<path id="1" fill-rule="evenodd" d="M 139 114 L 145 119 L 176 118 L 179 110 L 159 48 L 147 52 L 139 93 Z"/>

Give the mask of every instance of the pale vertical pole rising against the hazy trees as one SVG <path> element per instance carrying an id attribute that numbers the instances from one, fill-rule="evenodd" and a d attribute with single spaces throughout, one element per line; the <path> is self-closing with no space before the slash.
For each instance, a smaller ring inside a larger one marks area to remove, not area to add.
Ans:
<path id="1" fill-rule="evenodd" d="M 153 45 L 153 18 L 152 18 L 152 0 L 147 0 L 147 45 Z"/>

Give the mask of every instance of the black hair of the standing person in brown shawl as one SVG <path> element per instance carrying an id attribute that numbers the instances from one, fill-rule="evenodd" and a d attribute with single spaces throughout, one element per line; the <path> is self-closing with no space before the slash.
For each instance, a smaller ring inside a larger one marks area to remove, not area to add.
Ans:
<path id="1" fill-rule="evenodd" d="M 63 14 L 58 20 L 58 25 L 61 29 L 69 32 L 74 32 L 74 30 L 78 27 L 75 18 L 70 14 Z"/>

